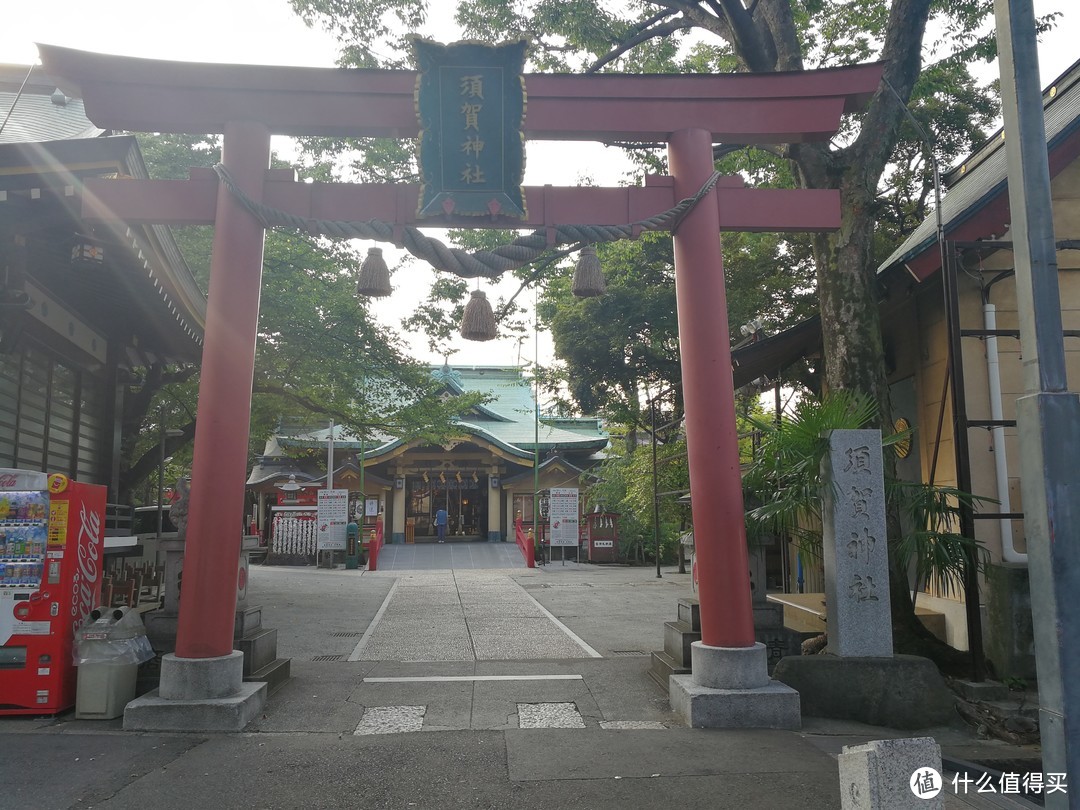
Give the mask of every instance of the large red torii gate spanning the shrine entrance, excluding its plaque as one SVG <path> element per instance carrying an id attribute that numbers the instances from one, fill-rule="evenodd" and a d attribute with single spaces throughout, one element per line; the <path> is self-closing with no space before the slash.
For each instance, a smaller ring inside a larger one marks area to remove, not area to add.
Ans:
<path id="1" fill-rule="evenodd" d="M 251 199 L 305 218 L 380 219 L 395 227 L 636 221 L 699 191 L 714 172 L 714 143 L 829 138 L 842 113 L 869 99 L 882 70 L 863 65 L 769 75 L 527 75 L 526 138 L 666 143 L 671 176 L 650 177 L 644 188 L 526 188 L 524 220 L 446 216 L 417 222 L 417 187 L 301 184 L 292 172 L 268 168 L 271 134 L 415 137 L 415 72 L 176 63 L 39 49 L 45 70 L 83 99 L 96 125 L 222 134 L 222 163 Z M 264 229 L 208 171 L 193 170 L 188 180 L 90 180 L 83 215 L 112 224 L 215 226 L 185 598 L 175 656 L 162 665 L 160 696 L 177 705 L 253 699 L 256 708 L 231 720 L 243 727 L 265 699 L 265 689 L 242 687 L 240 653 L 232 649 L 237 516 L 247 471 Z M 769 684 L 764 648 L 754 639 L 719 231 L 839 226 L 838 191 L 748 189 L 739 178 L 725 178 L 673 234 L 700 571 L 702 642 L 693 681 L 706 691 L 754 691 Z M 770 725 L 755 721 L 757 711 L 732 721 Z M 797 723 L 797 698 L 795 714 Z M 186 726 L 184 720 L 159 726 L 166 727 Z"/>

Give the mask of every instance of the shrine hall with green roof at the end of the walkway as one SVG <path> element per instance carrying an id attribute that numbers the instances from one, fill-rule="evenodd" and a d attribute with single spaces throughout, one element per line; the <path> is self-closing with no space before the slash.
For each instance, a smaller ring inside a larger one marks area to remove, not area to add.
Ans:
<path id="1" fill-rule="evenodd" d="M 540 415 L 538 421 L 531 383 L 519 367 L 444 365 L 432 375 L 448 394 L 487 399 L 459 417 L 457 434 L 437 445 L 390 435 L 361 442 L 335 427 L 334 487 L 350 491 L 350 515 L 363 511 L 367 527 L 381 518 L 388 542 L 424 542 L 434 539 L 435 512 L 445 509 L 451 539 L 500 541 L 513 537 L 518 514 L 532 522 L 539 491 L 542 537 L 544 492 L 584 490 L 595 481 L 589 470 L 608 444 L 600 420 Z M 329 431 L 328 421 L 319 429 L 282 424 L 252 468 L 247 489 L 271 553 L 275 522 L 284 529 L 297 513 L 314 514 L 315 491 L 326 486 Z"/>

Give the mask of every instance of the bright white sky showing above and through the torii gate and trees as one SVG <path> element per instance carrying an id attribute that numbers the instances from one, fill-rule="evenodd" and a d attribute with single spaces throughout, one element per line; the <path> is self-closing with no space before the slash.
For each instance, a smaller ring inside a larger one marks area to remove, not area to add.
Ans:
<path id="1" fill-rule="evenodd" d="M 1037 15 L 1063 12 L 1056 30 L 1039 46 L 1042 84 L 1048 84 L 1077 57 L 1075 38 L 1080 22 L 1077 0 L 1034 0 Z M 441 41 L 453 37 L 449 2 L 433 2 L 440 16 L 419 31 Z M 448 31 L 450 33 L 448 33 Z M 337 53 L 333 39 L 307 28 L 286 0 L 37 0 L 22 3 L 17 14 L 8 14 L 0 27 L 0 64 L 37 62 L 35 42 L 78 48 L 102 53 L 144 56 L 189 62 L 220 62 L 253 65 L 294 65 L 333 67 Z M 993 69 L 981 72 L 993 78 Z M 275 148 L 287 149 L 276 141 Z M 624 180 L 629 164 L 613 149 L 599 144 L 527 145 L 526 185 L 576 185 L 589 179 L 596 185 L 617 185 Z M 437 234 L 432 234 L 437 235 Z M 366 245 L 362 245 L 366 246 Z M 387 251 L 391 266 L 401 254 Z M 434 272 L 418 261 L 397 270 L 393 278 L 396 292 L 374 301 L 370 311 L 383 323 L 397 328 Z M 487 286 L 488 298 L 509 296 L 514 282 Z M 526 299 L 531 296 L 524 294 Z M 421 361 L 442 362 L 431 354 L 422 337 L 404 335 L 410 353 Z M 507 365 L 527 363 L 534 353 L 532 340 L 523 347 L 515 338 L 475 343 L 458 338 L 451 347 L 450 362 L 468 365 Z M 550 336 L 541 333 L 540 363 L 552 355 Z"/>

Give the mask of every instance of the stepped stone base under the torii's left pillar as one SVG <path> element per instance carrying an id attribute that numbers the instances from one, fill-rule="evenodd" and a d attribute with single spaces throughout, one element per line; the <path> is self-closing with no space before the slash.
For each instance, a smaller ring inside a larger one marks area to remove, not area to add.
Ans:
<path id="1" fill-rule="evenodd" d="M 161 660 L 161 687 L 124 710 L 125 731 L 242 731 L 258 716 L 267 685 L 244 683 L 244 656 Z"/>

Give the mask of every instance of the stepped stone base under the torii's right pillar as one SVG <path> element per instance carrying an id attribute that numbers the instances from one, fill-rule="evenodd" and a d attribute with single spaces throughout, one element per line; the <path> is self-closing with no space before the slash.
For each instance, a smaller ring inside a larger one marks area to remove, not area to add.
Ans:
<path id="1" fill-rule="evenodd" d="M 667 700 L 691 728 L 801 726 L 799 693 L 770 680 L 764 644 L 753 647 L 690 646 L 692 673 L 672 675 Z"/>

